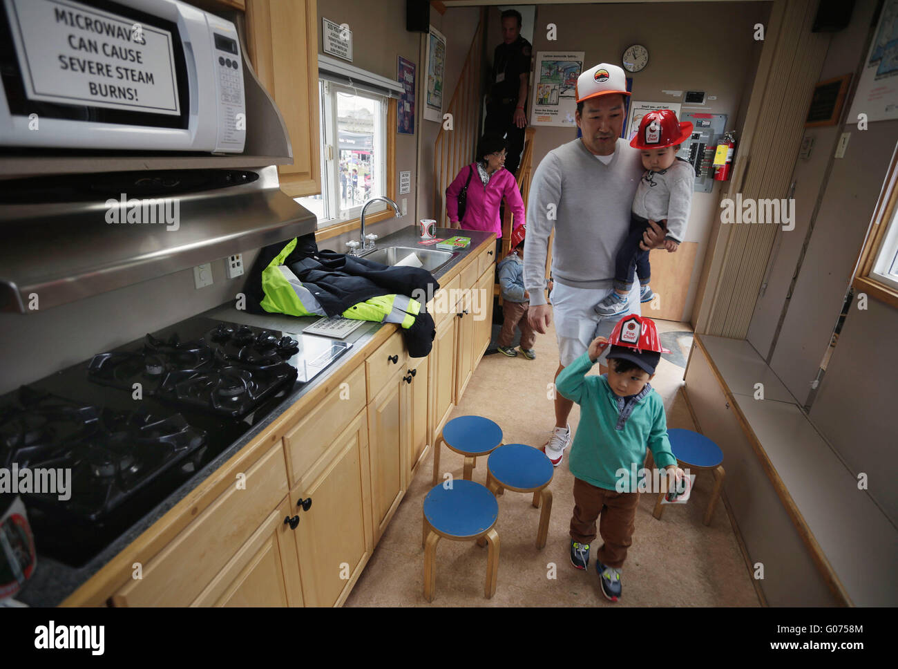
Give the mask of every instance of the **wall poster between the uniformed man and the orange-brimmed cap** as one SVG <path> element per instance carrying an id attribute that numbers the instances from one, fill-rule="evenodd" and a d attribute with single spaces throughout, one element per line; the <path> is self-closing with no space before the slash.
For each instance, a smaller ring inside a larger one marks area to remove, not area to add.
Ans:
<path id="1" fill-rule="evenodd" d="M 577 77 L 585 51 L 540 51 L 533 70 L 530 125 L 574 128 L 577 120 Z"/>

